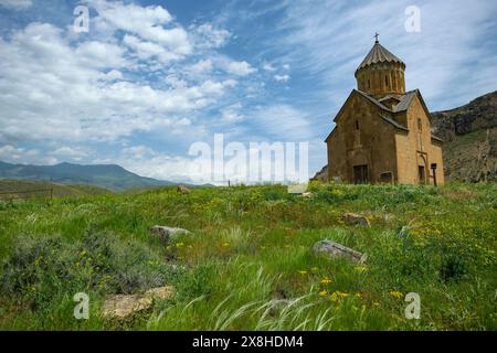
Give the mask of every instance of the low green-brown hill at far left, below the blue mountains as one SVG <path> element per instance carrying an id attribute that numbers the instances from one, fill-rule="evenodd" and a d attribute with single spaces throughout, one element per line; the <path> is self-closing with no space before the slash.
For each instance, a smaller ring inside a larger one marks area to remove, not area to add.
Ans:
<path id="1" fill-rule="evenodd" d="M 25 191 L 38 191 L 25 194 Z M 108 194 L 110 191 L 95 185 L 64 185 L 51 183 L 47 181 L 23 181 L 23 180 L 1 180 L 0 179 L 0 200 L 6 200 L 12 195 L 23 195 L 32 199 L 49 199 L 50 191 L 54 197 L 70 197 L 84 195 Z M 1 194 L 7 193 L 9 194 Z M 12 194 L 10 194 L 12 192 Z"/>

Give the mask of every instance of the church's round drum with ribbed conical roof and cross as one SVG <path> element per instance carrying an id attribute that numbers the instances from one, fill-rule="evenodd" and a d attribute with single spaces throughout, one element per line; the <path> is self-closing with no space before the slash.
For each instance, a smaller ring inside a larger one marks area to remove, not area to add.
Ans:
<path id="1" fill-rule="evenodd" d="M 405 64 L 378 41 L 356 69 L 358 89 L 377 99 L 405 93 Z"/>

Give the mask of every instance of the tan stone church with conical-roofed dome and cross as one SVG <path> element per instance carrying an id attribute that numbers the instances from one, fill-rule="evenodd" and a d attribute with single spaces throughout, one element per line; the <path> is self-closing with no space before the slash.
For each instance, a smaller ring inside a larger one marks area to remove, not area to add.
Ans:
<path id="1" fill-rule="evenodd" d="M 443 141 L 431 133 L 420 90 L 405 92 L 404 71 L 377 34 L 326 139 L 329 181 L 444 183 Z"/>

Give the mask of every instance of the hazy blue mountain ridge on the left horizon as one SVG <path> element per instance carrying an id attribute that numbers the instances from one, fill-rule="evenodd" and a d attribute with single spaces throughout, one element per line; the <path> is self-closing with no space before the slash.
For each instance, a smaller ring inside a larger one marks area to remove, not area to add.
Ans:
<path id="1" fill-rule="evenodd" d="M 30 165 L 0 162 L 0 179 L 97 185 L 113 191 L 175 184 L 169 181 L 140 176 L 115 164 L 60 163 L 55 165 Z"/>

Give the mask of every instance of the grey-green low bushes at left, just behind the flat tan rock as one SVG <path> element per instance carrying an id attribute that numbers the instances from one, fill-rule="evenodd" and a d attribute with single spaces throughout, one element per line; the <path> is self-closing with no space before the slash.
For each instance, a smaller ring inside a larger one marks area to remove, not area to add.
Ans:
<path id="1" fill-rule="evenodd" d="M 131 293 L 171 284 L 178 270 L 144 245 L 108 233 L 86 232 L 81 240 L 22 236 L 7 258 L 0 290 L 35 307 L 76 292 Z"/>

